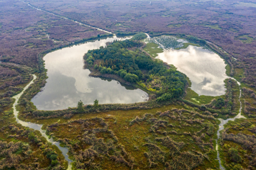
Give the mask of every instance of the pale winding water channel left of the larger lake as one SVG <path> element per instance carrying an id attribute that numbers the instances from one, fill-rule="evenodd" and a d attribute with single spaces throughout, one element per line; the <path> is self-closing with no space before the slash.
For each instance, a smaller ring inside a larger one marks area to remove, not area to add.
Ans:
<path id="1" fill-rule="evenodd" d="M 24 91 L 33 83 L 33 81 L 36 79 L 36 75 L 35 74 L 32 74 L 33 76 L 33 80 L 31 82 L 29 82 L 28 85 L 26 85 L 26 87 L 23 89 L 23 91 L 21 91 L 19 94 L 13 96 L 12 98 L 15 99 L 15 102 L 12 106 L 13 108 L 13 113 L 14 113 L 14 116 L 16 118 L 16 121 L 17 123 L 20 123 L 21 125 L 23 126 L 26 126 L 26 127 L 29 127 L 29 128 L 32 128 L 34 130 L 39 130 L 42 134 L 42 136 L 44 136 L 48 142 L 52 143 L 52 144 L 55 144 L 59 150 L 61 150 L 62 154 L 65 156 L 65 159 L 68 161 L 68 170 L 71 170 L 71 165 L 70 163 L 72 162 L 72 160 L 70 160 L 68 158 L 68 155 L 67 155 L 67 152 L 68 152 L 68 149 L 66 147 L 61 147 L 60 146 L 60 142 L 55 142 L 52 138 L 49 139 L 49 137 L 46 135 L 45 131 L 42 130 L 42 127 L 43 125 L 40 125 L 40 124 L 36 124 L 36 123 L 31 123 L 31 122 L 24 122 L 22 120 L 20 120 L 18 118 L 18 113 L 19 111 L 16 110 L 16 105 L 18 104 L 18 100 L 20 99 L 20 96 L 24 93 Z"/>

